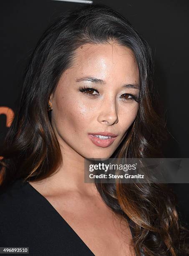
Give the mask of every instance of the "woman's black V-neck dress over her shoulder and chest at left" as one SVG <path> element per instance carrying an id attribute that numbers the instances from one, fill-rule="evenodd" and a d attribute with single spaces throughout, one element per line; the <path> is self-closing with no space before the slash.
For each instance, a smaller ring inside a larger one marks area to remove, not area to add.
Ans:
<path id="1" fill-rule="evenodd" d="M 0 195 L 0 247 L 29 247 L 29 255 L 94 255 L 50 202 L 22 179 Z"/>

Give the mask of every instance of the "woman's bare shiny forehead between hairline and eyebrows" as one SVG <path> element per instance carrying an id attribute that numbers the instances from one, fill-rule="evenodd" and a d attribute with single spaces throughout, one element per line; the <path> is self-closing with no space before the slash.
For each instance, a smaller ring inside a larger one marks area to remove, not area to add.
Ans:
<path id="1" fill-rule="evenodd" d="M 66 84 L 80 77 L 98 77 L 114 84 L 139 83 L 139 69 L 131 49 L 118 44 L 83 44 L 76 49 L 71 67 L 61 75 Z"/>

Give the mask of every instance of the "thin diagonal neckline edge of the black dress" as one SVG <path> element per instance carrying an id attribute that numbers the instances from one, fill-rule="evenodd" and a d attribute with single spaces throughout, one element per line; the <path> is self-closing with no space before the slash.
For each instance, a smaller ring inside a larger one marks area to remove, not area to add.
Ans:
<path id="1" fill-rule="evenodd" d="M 21 179 L 21 182 L 23 183 L 23 180 Z M 81 243 L 83 244 L 83 246 L 86 246 L 86 248 L 88 248 L 88 250 L 92 253 L 91 255 L 94 255 L 95 254 L 91 251 L 91 249 L 86 245 L 86 243 L 84 243 L 84 241 L 81 239 L 80 236 L 78 236 L 78 234 L 76 233 L 76 231 L 71 227 L 71 225 L 68 224 L 68 222 L 60 215 L 60 213 L 55 209 L 55 207 L 53 207 L 53 205 L 51 205 L 51 203 L 42 195 L 40 194 L 40 192 L 38 192 L 38 190 L 36 190 L 28 181 L 24 182 L 26 183 L 26 185 L 32 189 L 33 192 L 37 193 L 38 196 L 40 196 L 43 201 L 49 205 L 49 207 L 53 210 L 53 212 L 55 212 L 55 214 L 58 216 L 58 218 L 60 218 L 61 221 L 63 221 L 63 223 L 65 223 L 68 228 L 75 234 L 75 236 L 77 236 L 79 238 L 79 240 L 81 241 Z M 23 184 L 24 184 L 23 183 Z"/>

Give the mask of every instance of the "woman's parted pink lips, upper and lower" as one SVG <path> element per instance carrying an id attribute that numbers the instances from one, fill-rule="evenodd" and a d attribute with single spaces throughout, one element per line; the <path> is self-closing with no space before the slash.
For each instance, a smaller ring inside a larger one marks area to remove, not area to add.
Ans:
<path id="1" fill-rule="evenodd" d="M 107 138 L 107 139 L 100 139 L 94 135 L 102 135 L 102 136 L 111 136 L 111 138 Z M 115 141 L 117 135 L 114 133 L 88 133 L 88 137 L 90 138 L 90 140 L 98 147 L 102 147 L 102 148 L 106 148 L 108 146 L 110 146 L 113 141 Z"/>

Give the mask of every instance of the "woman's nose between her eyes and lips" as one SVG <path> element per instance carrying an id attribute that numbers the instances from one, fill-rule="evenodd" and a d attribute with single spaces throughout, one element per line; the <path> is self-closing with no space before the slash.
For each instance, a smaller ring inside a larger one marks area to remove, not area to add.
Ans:
<path id="1" fill-rule="evenodd" d="M 113 100 L 112 97 L 110 99 L 106 98 L 102 102 L 100 112 L 98 114 L 98 122 L 106 123 L 107 125 L 118 123 L 116 100 Z"/>

